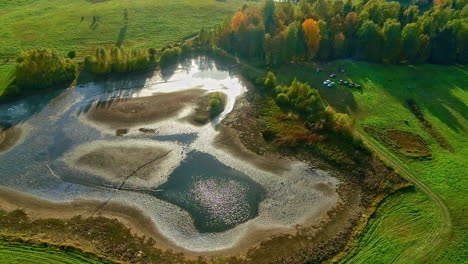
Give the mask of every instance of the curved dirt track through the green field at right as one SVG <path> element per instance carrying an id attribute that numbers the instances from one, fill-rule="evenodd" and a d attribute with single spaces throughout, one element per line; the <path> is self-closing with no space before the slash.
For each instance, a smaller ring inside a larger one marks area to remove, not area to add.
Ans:
<path id="1" fill-rule="evenodd" d="M 387 150 L 374 143 L 365 133 L 356 129 L 355 134 L 362 139 L 365 145 L 367 145 L 372 151 L 379 155 L 384 162 L 392 166 L 400 173 L 400 175 L 413 182 L 418 188 L 426 193 L 440 209 L 441 224 L 438 229 L 433 231 L 436 232 L 436 234 L 433 236 L 434 239 L 428 241 L 428 243 L 425 243 L 424 248 L 411 250 L 410 252 L 408 252 L 408 250 L 403 251 L 400 256 L 394 260 L 393 263 L 398 263 L 398 260 L 402 259 L 405 255 L 410 255 L 408 256 L 409 258 L 415 258 L 416 255 L 419 255 L 418 259 L 424 259 L 424 263 L 430 263 L 434 261 L 439 256 L 440 252 L 446 246 L 446 244 L 448 244 L 452 234 L 452 219 L 444 201 L 442 201 L 437 193 L 432 191 L 427 185 L 421 182 L 405 164 L 392 157 L 392 155 L 390 155 Z"/>

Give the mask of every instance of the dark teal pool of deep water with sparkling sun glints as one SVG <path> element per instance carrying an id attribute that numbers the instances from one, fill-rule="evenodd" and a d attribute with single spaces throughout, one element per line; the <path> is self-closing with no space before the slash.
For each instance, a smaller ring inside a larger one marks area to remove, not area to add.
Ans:
<path id="1" fill-rule="evenodd" d="M 200 233 L 223 232 L 258 215 L 265 189 L 211 155 L 192 151 L 150 194 L 186 210 Z"/>

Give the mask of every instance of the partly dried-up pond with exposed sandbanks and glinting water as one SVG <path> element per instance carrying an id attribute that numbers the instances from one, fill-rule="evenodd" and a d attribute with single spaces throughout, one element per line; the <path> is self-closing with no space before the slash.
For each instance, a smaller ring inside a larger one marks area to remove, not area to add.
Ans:
<path id="1" fill-rule="evenodd" d="M 339 200 L 328 172 L 300 161 L 272 172 L 214 145 L 246 91 L 227 67 L 197 57 L 170 74 L 0 105 L 0 126 L 18 138 L 0 152 L 0 185 L 53 202 L 93 201 L 90 215 L 109 201 L 131 206 L 190 252 L 233 248 L 259 230 L 266 236 L 319 219 Z M 225 110 L 192 122 L 212 92 L 226 94 Z"/>

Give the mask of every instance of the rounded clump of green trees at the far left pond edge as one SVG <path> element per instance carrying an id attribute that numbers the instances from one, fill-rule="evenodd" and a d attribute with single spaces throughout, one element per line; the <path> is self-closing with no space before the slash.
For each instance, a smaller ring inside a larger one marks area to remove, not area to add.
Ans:
<path id="1" fill-rule="evenodd" d="M 77 64 L 55 49 L 23 51 L 16 59 L 14 82 L 4 95 L 15 96 L 58 85 L 68 85 L 76 77 Z"/>

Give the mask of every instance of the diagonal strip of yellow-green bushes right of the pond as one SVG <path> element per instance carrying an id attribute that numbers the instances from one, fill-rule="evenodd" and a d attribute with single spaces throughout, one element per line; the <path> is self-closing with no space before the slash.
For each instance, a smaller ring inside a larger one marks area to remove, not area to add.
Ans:
<path id="1" fill-rule="evenodd" d="M 321 136 L 329 134 L 354 141 L 349 116 L 328 106 L 319 91 L 309 84 L 294 80 L 290 85 L 277 85 L 275 75 L 269 72 L 264 85 L 275 96 L 278 106 L 293 111 L 304 121 L 311 132 L 306 143 L 316 143 Z"/>

